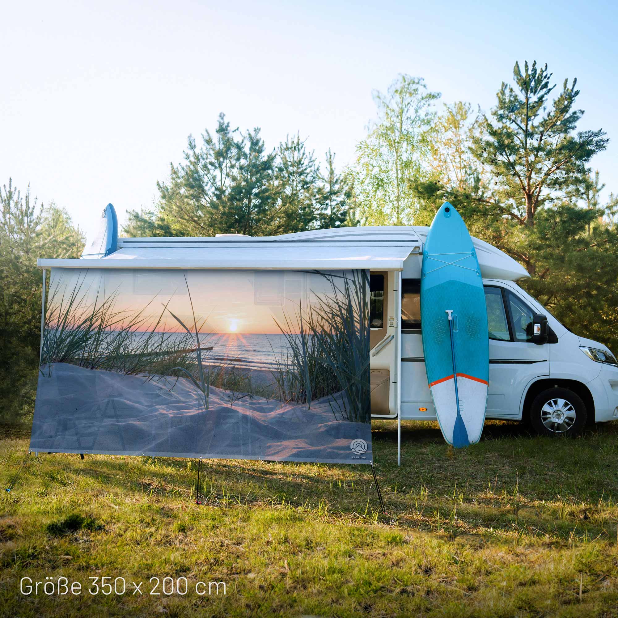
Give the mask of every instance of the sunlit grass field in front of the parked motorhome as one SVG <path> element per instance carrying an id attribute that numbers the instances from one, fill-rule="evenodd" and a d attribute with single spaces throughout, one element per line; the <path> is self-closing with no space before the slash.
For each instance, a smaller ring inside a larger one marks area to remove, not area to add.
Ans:
<path id="1" fill-rule="evenodd" d="M 389 517 L 364 466 L 208 460 L 196 506 L 195 461 L 31 456 L 2 492 L 0 616 L 618 615 L 618 423 L 551 440 L 494 421 L 465 451 L 404 423 L 401 468 L 393 423 L 373 441 Z M 3 488 L 27 446 L 4 431 Z M 82 594 L 20 593 L 60 576 Z"/>

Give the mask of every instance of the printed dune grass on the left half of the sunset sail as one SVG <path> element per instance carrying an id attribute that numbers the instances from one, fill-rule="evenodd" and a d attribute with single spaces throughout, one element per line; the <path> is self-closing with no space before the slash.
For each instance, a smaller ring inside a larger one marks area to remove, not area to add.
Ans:
<path id="1" fill-rule="evenodd" d="M 193 306 L 193 324 L 187 328 L 166 304 L 155 320 L 146 315 L 156 300 L 153 297 L 133 313 L 117 311 L 116 294 L 103 295 L 99 289 L 93 292 L 85 284 L 85 276 L 70 290 L 64 287 L 54 290 L 47 303 L 41 346 L 44 375 L 53 371 L 53 363 L 70 363 L 91 370 L 139 375 L 148 380 L 189 376 L 203 393 L 206 409 L 210 386 L 232 392 L 272 394 L 272 389 L 254 385 L 246 373 L 235 371 L 233 359 L 227 363 L 208 363 L 216 337 L 211 332 L 202 332 L 206 321 L 198 322 Z M 182 330 L 161 329 L 166 313 Z M 172 381 L 172 388 L 173 384 Z"/>

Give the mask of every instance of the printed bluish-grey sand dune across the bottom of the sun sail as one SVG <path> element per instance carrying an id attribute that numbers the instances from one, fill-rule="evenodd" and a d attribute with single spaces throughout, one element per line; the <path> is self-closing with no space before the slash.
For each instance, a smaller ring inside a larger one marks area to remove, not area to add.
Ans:
<path id="1" fill-rule="evenodd" d="M 326 398 L 311 402 L 309 410 L 307 405 L 281 405 L 211 387 L 208 407 L 205 410 L 203 394 L 185 378 L 146 381 L 68 363 L 44 365 L 30 448 L 333 463 L 371 460 L 371 424 L 336 419 Z M 357 439 L 368 443 L 366 452 L 351 451 Z"/>

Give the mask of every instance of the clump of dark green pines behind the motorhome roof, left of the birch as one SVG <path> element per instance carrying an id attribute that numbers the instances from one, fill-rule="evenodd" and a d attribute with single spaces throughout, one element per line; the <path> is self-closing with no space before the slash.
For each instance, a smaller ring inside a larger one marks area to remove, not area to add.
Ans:
<path id="1" fill-rule="evenodd" d="M 334 167 L 331 173 L 332 206 L 342 208 L 343 198 L 335 195 L 341 188 L 335 187 L 339 176 Z M 298 133 L 268 152 L 259 128 L 243 134 L 219 114 L 215 132 L 205 130 L 200 145 L 188 137 L 183 163 L 172 163 L 169 179 L 157 183 L 156 204 L 150 210 L 130 211 L 123 232 L 132 236 L 300 232 L 323 222 L 324 182 L 313 152 Z"/>

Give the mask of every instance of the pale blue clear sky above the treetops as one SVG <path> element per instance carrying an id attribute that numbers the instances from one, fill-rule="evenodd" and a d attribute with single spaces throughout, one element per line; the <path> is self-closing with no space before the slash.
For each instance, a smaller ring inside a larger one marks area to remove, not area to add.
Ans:
<path id="1" fill-rule="evenodd" d="M 341 168 L 373 88 L 404 72 L 489 111 L 517 59 L 578 78 L 580 128 L 612 140 L 593 166 L 618 192 L 614 3 L 12 0 L 2 18 L 0 183 L 30 182 L 87 232 L 109 201 L 121 221 L 150 207 L 219 111 L 269 148 L 299 130 Z"/>

